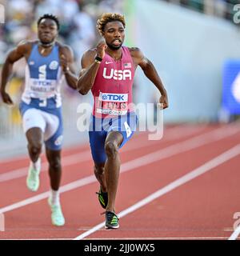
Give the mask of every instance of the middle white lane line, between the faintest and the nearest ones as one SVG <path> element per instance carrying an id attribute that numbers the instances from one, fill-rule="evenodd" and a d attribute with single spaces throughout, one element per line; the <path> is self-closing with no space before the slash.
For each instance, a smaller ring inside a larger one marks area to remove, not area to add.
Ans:
<path id="1" fill-rule="evenodd" d="M 218 140 L 221 140 L 222 138 L 226 138 L 229 136 L 232 136 L 233 134 L 236 134 L 238 132 L 238 129 L 222 129 L 219 128 L 214 131 L 210 131 L 206 134 L 198 135 L 194 138 L 187 139 L 183 142 L 175 143 L 171 146 L 166 146 L 166 148 L 162 150 L 155 151 L 154 153 L 146 154 L 143 157 L 136 158 L 134 160 L 130 160 L 129 162 L 123 163 L 121 166 L 121 173 L 129 171 L 129 170 L 135 170 L 135 168 L 146 166 L 153 162 L 158 162 L 164 158 L 169 158 L 170 156 L 174 156 L 176 154 L 180 154 L 183 152 L 186 152 L 188 150 L 193 150 L 194 148 L 198 148 L 199 146 L 206 145 L 210 142 L 216 142 Z M 64 186 L 60 187 L 60 192 L 66 192 L 70 190 L 74 190 L 76 188 L 79 188 L 81 186 L 86 186 L 90 183 L 97 182 L 94 175 L 87 176 L 86 178 L 81 178 L 77 181 L 70 182 L 69 184 L 66 184 Z M 22 206 L 27 206 L 31 203 L 38 202 L 44 198 L 47 198 L 49 196 L 49 191 L 44 192 L 42 194 L 37 194 L 34 197 L 27 198 L 25 200 L 22 200 L 20 202 L 16 202 L 10 206 L 5 206 L 3 208 L 0 208 L 0 213 L 6 213 L 10 210 L 18 209 Z"/>

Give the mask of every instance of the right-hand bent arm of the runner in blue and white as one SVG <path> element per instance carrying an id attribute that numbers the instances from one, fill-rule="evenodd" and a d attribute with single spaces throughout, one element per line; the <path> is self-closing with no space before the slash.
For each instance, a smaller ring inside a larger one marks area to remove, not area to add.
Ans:
<path id="1" fill-rule="evenodd" d="M 69 46 L 62 46 L 60 50 L 60 62 L 62 71 L 65 74 L 67 85 L 72 89 L 77 89 L 78 78 L 74 71 L 74 54 Z"/>

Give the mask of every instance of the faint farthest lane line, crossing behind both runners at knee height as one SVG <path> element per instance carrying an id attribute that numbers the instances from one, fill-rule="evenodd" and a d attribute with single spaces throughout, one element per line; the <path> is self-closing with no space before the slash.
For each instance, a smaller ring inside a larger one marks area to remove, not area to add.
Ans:
<path id="1" fill-rule="evenodd" d="M 171 128 L 169 130 L 168 133 L 166 133 L 166 136 L 165 136 L 165 141 L 171 141 L 171 140 L 174 140 L 176 138 L 176 134 L 178 134 L 179 131 L 184 131 L 184 133 L 181 135 L 181 138 L 184 138 L 186 136 L 189 136 L 191 134 L 194 134 L 194 133 L 197 133 L 199 132 L 200 130 L 203 130 L 205 127 L 204 126 L 201 126 L 200 128 L 194 128 L 194 129 L 190 129 L 192 127 L 185 127 L 185 126 L 178 126 L 178 127 L 174 127 L 174 128 Z M 179 138 L 179 136 L 178 136 Z M 142 147 L 145 147 L 145 146 L 150 146 L 150 145 L 154 145 L 154 144 L 157 144 L 158 142 L 157 141 L 154 141 L 154 143 L 151 143 L 146 139 L 144 140 L 143 142 L 141 142 L 140 145 L 138 145 L 138 143 L 134 143 L 134 144 L 131 144 L 131 146 L 126 146 L 122 149 L 122 152 L 127 152 L 127 151 L 130 151 L 130 150 L 134 150 L 134 149 L 140 149 Z M 66 156 L 66 157 L 63 157 L 62 158 L 62 166 L 65 167 L 65 166 L 71 166 L 71 165 L 74 165 L 74 164 L 77 164 L 77 163 L 81 163 L 81 162 L 86 162 L 86 161 L 89 161 L 91 160 L 91 154 L 90 154 L 90 150 L 85 150 L 81 153 L 77 153 L 77 154 L 72 154 L 72 155 L 69 155 L 69 156 Z M 44 171 L 47 171 L 48 170 L 48 163 L 47 162 L 42 162 L 42 168 L 41 168 L 41 172 L 44 172 Z M 26 176 L 28 172 L 28 167 L 22 167 L 20 169 L 17 169 L 17 170 L 10 170 L 10 171 L 7 171 L 6 173 L 3 173 L 3 174 L 0 174 L 0 182 L 7 182 L 7 181 L 10 181 L 12 179 L 15 179 L 15 178 L 21 178 L 21 177 L 24 177 Z"/>

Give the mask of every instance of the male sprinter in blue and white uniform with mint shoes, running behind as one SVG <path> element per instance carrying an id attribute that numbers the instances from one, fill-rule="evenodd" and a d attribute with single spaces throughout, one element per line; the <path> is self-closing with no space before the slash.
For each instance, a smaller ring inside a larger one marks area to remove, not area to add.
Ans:
<path id="1" fill-rule="evenodd" d="M 7 54 L 2 68 L 1 94 L 6 104 L 13 104 L 6 93 L 6 83 L 14 62 L 26 58 L 26 82 L 22 94 L 20 111 L 23 130 L 26 133 L 30 168 L 26 178 L 29 190 L 37 191 L 39 186 L 40 154 L 45 142 L 46 158 L 49 162 L 51 193 L 48 202 L 51 219 L 55 226 L 65 223 L 59 200 L 61 148 L 62 148 L 62 100 L 60 86 L 62 74 L 68 86 L 76 89 L 77 77 L 71 64 L 74 56 L 69 46 L 56 42 L 58 18 L 45 14 L 38 19 L 38 40 L 23 42 Z"/>

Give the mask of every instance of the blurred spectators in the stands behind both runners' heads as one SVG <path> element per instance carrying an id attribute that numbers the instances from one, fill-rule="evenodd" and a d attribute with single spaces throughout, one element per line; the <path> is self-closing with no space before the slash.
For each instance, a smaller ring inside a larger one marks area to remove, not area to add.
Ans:
<path id="1" fill-rule="evenodd" d="M 105 11 L 122 12 L 122 1 L 115 0 L 0 0 L 0 4 L 6 12 L 5 24 L 0 26 L 0 64 L 6 50 L 24 39 L 36 38 L 36 21 L 42 14 L 59 18 L 58 40 L 70 45 L 79 60 L 98 36 L 95 30 L 98 16 Z"/>

